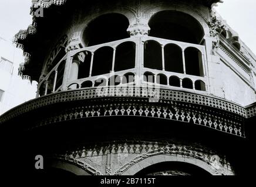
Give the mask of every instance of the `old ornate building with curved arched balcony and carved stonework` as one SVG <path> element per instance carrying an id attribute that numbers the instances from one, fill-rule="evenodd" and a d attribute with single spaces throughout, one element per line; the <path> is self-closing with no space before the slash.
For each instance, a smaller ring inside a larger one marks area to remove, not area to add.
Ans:
<path id="1" fill-rule="evenodd" d="M 22 159 L 62 174 L 245 174 L 256 57 L 218 2 L 33 1 L 15 42 L 37 98 L 0 117 L 26 137 Z"/>

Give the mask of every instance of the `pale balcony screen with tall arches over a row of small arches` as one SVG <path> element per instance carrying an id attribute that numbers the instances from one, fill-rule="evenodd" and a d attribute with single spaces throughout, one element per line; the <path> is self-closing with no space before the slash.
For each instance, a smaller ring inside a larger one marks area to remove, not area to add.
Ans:
<path id="1" fill-rule="evenodd" d="M 177 51 L 173 57 L 169 54 L 172 51 Z M 191 55 L 195 57 L 195 54 L 197 57 L 191 61 Z M 191 63 L 198 70 L 191 71 Z M 100 64 L 106 67 L 102 70 Z M 157 37 L 132 37 L 70 51 L 39 82 L 38 93 L 42 96 L 99 85 L 150 84 L 202 93 L 207 92 L 206 64 L 204 46 Z"/>

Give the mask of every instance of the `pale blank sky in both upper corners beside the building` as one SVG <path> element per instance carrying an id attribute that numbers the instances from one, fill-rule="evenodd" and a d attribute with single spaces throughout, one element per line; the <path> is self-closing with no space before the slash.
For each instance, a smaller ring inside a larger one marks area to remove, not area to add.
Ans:
<path id="1" fill-rule="evenodd" d="M 27 29 L 32 23 L 30 6 L 31 0 L 0 0 L 0 56 L 16 65 L 24 58 L 22 50 L 16 49 L 12 40 L 20 29 Z M 215 9 L 256 54 L 256 1 L 224 0 Z"/>

